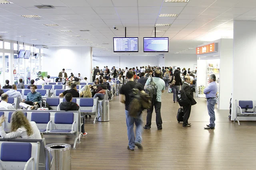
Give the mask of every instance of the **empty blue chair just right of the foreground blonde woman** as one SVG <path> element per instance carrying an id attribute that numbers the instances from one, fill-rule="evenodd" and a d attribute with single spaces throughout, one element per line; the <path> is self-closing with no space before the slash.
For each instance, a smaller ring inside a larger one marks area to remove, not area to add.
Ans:
<path id="1" fill-rule="evenodd" d="M 50 112 L 32 112 L 31 121 L 36 122 L 40 132 L 47 132 L 50 124 Z"/>

